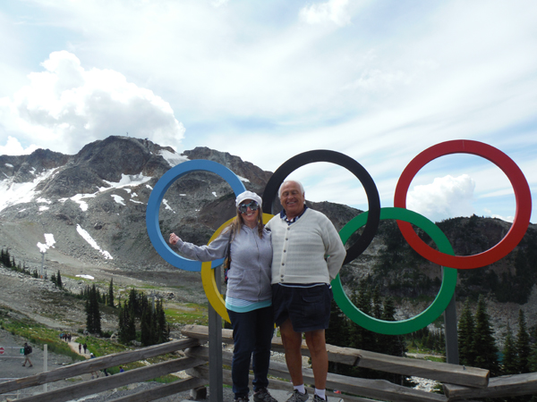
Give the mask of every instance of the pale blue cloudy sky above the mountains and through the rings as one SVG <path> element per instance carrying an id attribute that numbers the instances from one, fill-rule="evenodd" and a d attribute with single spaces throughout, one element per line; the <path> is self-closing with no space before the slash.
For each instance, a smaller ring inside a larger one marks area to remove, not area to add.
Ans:
<path id="1" fill-rule="evenodd" d="M 535 197 L 535 21 L 534 1 L 5 1 L 0 155 L 129 135 L 275 171 L 330 149 L 393 206 L 414 156 L 472 139 L 512 158 Z M 293 177 L 309 199 L 368 209 L 341 167 Z M 407 205 L 434 221 L 516 212 L 505 174 L 477 155 L 428 163 Z"/>

